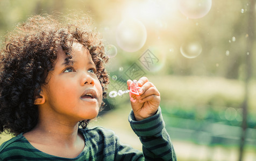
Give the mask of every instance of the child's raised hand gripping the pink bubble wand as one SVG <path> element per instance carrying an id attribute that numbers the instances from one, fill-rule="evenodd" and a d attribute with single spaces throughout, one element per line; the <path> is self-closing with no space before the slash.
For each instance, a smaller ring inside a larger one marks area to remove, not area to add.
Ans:
<path id="1" fill-rule="evenodd" d="M 127 80 L 129 86 L 132 80 Z M 143 89 L 138 95 L 131 94 L 136 102 L 131 101 L 132 110 L 137 121 L 146 119 L 154 115 L 158 111 L 160 104 L 160 93 L 153 83 L 148 82 L 146 77 L 142 77 L 138 80 L 138 85 Z"/>

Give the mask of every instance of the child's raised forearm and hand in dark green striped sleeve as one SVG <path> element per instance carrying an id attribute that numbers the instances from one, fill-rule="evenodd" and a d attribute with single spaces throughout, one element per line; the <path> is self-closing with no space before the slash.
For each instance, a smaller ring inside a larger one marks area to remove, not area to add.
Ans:
<path id="1" fill-rule="evenodd" d="M 127 85 L 131 84 L 127 81 Z M 136 101 L 129 116 L 131 127 L 143 144 L 143 154 L 147 160 L 176 160 L 175 151 L 162 119 L 160 93 L 146 77 L 138 80 L 143 89 L 140 96 L 131 94 Z"/>

